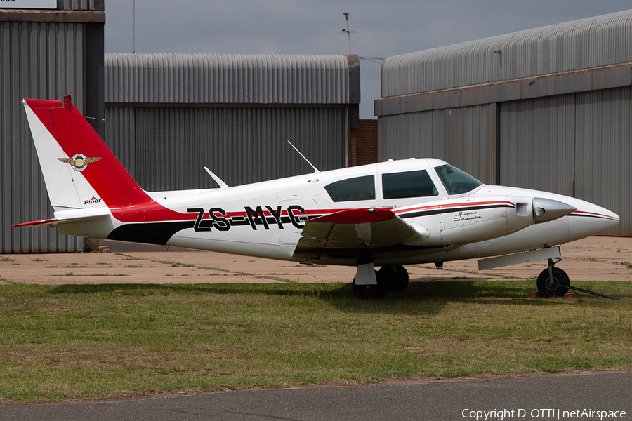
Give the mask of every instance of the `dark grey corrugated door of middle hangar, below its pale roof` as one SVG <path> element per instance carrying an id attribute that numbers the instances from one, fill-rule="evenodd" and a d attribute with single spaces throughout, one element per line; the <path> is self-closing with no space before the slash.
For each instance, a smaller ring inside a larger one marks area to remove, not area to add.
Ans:
<path id="1" fill-rule="evenodd" d="M 217 187 L 343 168 L 343 107 L 106 107 L 105 138 L 150 191 Z"/>

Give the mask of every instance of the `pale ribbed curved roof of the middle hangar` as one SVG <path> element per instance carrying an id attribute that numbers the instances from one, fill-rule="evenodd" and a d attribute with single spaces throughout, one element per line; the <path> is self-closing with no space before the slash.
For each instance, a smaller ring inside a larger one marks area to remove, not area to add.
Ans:
<path id="1" fill-rule="evenodd" d="M 105 102 L 357 104 L 357 55 L 105 54 Z"/>

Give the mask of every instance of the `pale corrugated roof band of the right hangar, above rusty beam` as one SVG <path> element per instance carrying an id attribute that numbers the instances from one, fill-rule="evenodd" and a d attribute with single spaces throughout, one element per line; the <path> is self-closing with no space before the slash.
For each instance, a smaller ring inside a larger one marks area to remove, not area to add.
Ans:
<path id="1" fill-rule="evenodd" d="M 632 11 L 395 55 L 382 98 L 632 62 Z"/>

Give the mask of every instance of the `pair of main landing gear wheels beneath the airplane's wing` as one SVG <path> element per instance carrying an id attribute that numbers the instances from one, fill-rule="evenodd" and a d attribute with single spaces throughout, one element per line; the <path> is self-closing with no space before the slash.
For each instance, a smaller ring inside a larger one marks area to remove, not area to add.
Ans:
<path id="1" fill-rule="evenodd" d="M 372 266 L 371 264 L 371 268 Z M 358 267 L 358 273 L 351 283 L 351 289 L 357 298 L 382 298 L 386 291 L 403 291 L 408 286 L 408 271 L 403 266 L 383 266 L 380 270 L 374 270 L 374 274 L 376 283 L 370 283 L 370 273 L 369 280 L 364 279 L 362 269 Z"/>

